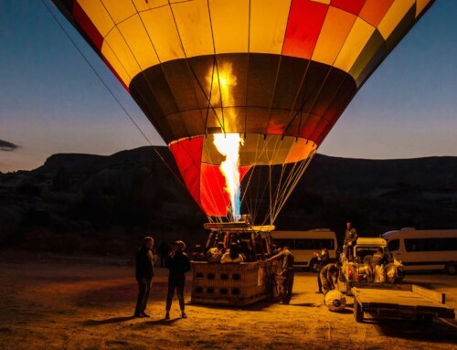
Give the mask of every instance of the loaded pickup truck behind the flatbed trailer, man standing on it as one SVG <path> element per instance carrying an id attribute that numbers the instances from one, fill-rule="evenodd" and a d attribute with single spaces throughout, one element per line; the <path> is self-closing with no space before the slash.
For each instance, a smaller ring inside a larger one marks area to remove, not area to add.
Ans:
<path id="1" fill-rule="evenodd" d="M 386 239 L 381 238 L 358 238 L 356 245 L 350 248 L 354 257 L 353 260 L 349 260 L 345 256 L 345 251 L 340 254 L 339 260 L 343 263 L 343 266 L 336 285 L 338 291 L 352 295 L 351 287 L 354 285 L 375 281 L 375 270 L 371 260 L 378 248 L 383 249 L 387 260 L 389 256 L 388 242 Z M 395 283 L 401 281 L 404 277 L 402 265 L 396 260 L 387 260 L 380 273 L 382 274 L 382 282 Z"/>

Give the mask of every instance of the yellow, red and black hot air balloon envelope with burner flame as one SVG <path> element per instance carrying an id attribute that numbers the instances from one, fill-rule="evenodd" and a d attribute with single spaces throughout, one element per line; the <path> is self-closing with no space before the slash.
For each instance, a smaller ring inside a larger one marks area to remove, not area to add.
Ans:
<path id="1" fill-rule="evenodd" d="M 357 90 L 434 0 L 53 2 L 165 140 L 207 216 L 272 224 Z"/>

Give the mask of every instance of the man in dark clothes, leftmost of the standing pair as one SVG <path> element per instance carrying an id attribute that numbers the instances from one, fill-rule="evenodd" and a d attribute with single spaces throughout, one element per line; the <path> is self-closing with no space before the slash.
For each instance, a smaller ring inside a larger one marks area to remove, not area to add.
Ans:
<path id="1" fill-rule="evenodd" d="M 143 238 L 143 247 L 136 252 L 135 275 L 138 281 L 138 299 L 133 317 L 149 317 L 145 310 L 154 277 L 153 247 L 154 239 L 146 236 Z"/>

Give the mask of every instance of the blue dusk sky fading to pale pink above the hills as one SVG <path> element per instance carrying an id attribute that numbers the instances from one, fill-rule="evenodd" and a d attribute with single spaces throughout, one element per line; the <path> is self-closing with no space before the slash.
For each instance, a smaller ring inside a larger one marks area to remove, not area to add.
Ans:
<path id="1" fill-rule="evenodd" d="M 44 0 L 152 144 L 143 112 Z M 367 159 L 457 156 L 457 1 L 437 0 L 357 93 L 318 152 Z M 0 0 L 0 171 L 51 154 L 113 154 L 150 143 L 42 1 Z"/>

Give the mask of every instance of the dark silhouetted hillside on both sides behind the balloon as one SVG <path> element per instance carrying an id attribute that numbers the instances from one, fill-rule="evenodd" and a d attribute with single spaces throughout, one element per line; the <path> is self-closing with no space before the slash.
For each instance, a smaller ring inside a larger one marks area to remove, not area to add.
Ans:
<path id="1" fill-rule="evenodd" d="M 206 239 L 206 217 L 166 147 L 111 156 L 54 154 L 30 172 L 0 174 L 2 247 L 129 253 L 145 234 Z M 317 154 L 276 221 L 279 229 L 361 235 L 457 228 L 457 157 L 347 159 Z"/>

